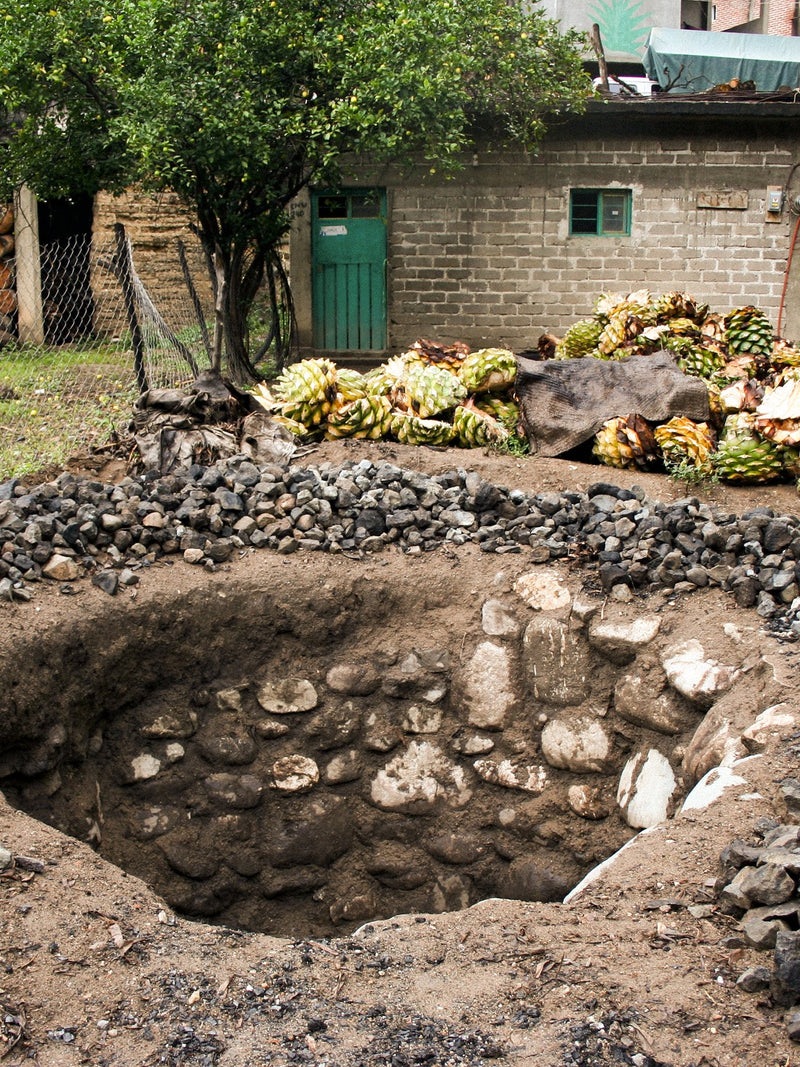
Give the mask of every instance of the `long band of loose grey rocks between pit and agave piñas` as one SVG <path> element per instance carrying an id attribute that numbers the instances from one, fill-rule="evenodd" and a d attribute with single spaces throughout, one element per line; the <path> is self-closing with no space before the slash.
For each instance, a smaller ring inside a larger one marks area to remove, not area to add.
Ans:
<path id="1" fill-rule="evenodd" d="M 388 462 L 256 466 L 235 457 L 178 475 L 106 484 L 62 474 L 28 489 L 0 484 L 0 600 L 35 583 L 91 575 L 109 595 L 164 557 L 214 570 L 258 548 L 364 558 L 471 542 L 532 562 L 579 560 L 604 591 L 689 592 L 720 586 L 768 628 L 800 637 L 800 520 L 757 507 L 742 515 L 685 497 L 596 482 L 586 492 L 526 493 L 453 468 L 426 475 Z"/>

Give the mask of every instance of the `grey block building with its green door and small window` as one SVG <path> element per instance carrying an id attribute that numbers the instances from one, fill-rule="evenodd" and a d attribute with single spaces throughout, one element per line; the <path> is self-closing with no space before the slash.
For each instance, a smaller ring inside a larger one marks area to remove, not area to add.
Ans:
<path id="1" fill-rule="evenodd" d="M 800 337 L 800 103 L 607 97 L 537 156 L 491 145 L 452 178 L 354 169 L 303 198 L 291 273 L 306 351 L 417 337 L 532 348 L 602 291 L 755 304 Z"/>

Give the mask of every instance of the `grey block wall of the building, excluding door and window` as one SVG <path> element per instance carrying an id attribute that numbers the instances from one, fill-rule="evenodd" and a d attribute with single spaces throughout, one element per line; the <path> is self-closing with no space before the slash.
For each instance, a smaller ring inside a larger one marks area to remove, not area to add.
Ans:
<path id="1" fill-rule="evenodd" d="M 775 322 L 795 218 L 765 221 L 766 189 L 783 187 L 800 159 L 800 114 L 771 108 L 592 102 L 554 125 L 535 157 L 480 149 L 446 181 L 427 169 L 354 172 L 388 190 L 389 348 L 419 336 L 535 348 L 543 332 L 590 314 L 599 292 L 642 287 L 687 291 L 723 313 L 755 304 Z M 630 236 L 571 236 L 574 188 L 630 189 Z M 292 245 L 306 345 L 308 225 L 306 211 Z M 800 333 L 791 291 L 789 337 Z"/>

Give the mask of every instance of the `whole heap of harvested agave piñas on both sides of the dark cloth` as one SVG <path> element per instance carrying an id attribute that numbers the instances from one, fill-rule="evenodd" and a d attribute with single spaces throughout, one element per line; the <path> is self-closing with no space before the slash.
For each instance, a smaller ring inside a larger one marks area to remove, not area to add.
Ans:
<path id="1" fill-rule="evenodd" d="M 614 467 L 687 480 L 768 482 L 800 478 L 800 349 L 775 337 L 753 306 L 727 315 L 683 292 L 602 293 L 543 357 L 621 360 L 668 350 L 708 389 L 710 419 L 678 415 L 661 425 L 637 413 L 609 419 L 592 451 Z M 367 375 L 331 360 L 303 360 L 256 399 L 299 436 L 393 439 L 411 445 L 524 450 L 514 393 L 516 357 L 502 348 L 416 341 Z"/>

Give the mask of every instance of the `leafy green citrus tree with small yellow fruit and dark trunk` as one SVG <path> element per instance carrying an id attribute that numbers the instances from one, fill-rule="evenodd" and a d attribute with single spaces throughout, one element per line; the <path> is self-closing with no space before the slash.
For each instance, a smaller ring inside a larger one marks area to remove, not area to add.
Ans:
<path id="1" fill-rule="evenodd" d="M 6 0 L 6 192 L 138 184 L 192 212 L 215 359 L 245 380 L 289 210 L 343 158 L 446 170 L 476 136 L 531 148 L 588 92 L 580 37 L 507 0 Z M 274 330 L 273 330 L 274 333 Z M 278 341 L 281 334 L 277 333 Z"/>

